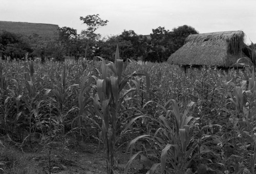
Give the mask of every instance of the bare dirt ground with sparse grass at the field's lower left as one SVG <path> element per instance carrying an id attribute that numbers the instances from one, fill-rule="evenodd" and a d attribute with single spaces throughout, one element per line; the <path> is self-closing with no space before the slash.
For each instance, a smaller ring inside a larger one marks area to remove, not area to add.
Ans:
<path id="1" fill-rule="evenodd" d="M 120 150 L 116 153 L 114 173 L 124 171 L 129 156 Z M 2 148 L 0 173 L 49 173 L 49 151 L 30 145 L 22 150 L 15 147 Z M 136 159 L 129 168 L 129 174 L 144 174 L 142 164 Z M 70 146 L 69 150 L 51 152 L 51 173 L 57 174 L 93 174 L 106 173 L 105 151 L 102 144 L 84 143 L 79 146 Z"/>

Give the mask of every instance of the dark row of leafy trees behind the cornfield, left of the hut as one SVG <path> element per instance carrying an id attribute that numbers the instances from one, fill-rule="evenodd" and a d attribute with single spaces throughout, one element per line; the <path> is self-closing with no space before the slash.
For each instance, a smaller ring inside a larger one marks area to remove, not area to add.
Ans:
<path id="1" fill-rule="evenodd" d="M 0 34 L 0 57 L 10 60 L 39 57 L 42 61 L 53 57 L 61 61 L 65 57 L 78 60 L 80 57 L 92 59 L 101 56 L 113 61 L 118 45 L 122 59 L 163 62 L 184 44 L 188 35 L 198 33 L 193 27 L 184 25 L 172 31 L 158 27 L 146 36 L 124 30 L 120 35 L 102 38 L 94 33 L 95 30 L 91 32 L 89 29 L 78 34 L 73 28 L 62 27 L 58 39 L 48 40 L 37 34 L 24 36 L 3 31 Z"/>

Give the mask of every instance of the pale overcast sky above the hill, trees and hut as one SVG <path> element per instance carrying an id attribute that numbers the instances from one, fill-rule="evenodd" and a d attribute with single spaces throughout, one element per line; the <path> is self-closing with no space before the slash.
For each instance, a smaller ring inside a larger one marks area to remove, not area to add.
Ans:
<path id="1" fill-rule="evenodd" d="M 89 14 L 109 20 L 96 31 L 102 36 L 187 24 L 199 33 L 242 30 L 246 43 L 256 43 L 256 0 L 0 0 L 0 20 L 52 23 L 78 33 L 87 28 L 79 17 Z"/>

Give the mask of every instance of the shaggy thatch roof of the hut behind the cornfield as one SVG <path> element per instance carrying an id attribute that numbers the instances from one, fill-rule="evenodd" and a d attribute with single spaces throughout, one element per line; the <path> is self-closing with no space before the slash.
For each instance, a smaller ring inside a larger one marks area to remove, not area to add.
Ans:
<path id="1" fill-rule="evenodd" d="M 243 50 L 244 32 L 229 31 L 189 35 L 184 45 L 168 58 L 179 65 L 230 67 L 239 58 L 247 57 Z"/>

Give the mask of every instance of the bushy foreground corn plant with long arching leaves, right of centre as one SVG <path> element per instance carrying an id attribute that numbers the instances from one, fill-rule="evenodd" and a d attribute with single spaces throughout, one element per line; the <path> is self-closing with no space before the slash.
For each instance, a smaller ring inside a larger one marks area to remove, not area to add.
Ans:
<path id="1" fill-rule="evenodd" d="M 173 110 L 167 109 L 170 104 L 172 104 Z M 159 128 L 153 135 L 138 136 L 127 146 L 127 151 L 131 147 L 132 154 L 135 143 L 140 139 L 147 139 L 151 144 L 151 148 L 150 150 L 145 148 L 145 152 L 151 158 L 152 154 L 154 154 L 153 158 L 155 160 L 152 161 L 141 155 L 143 151 L 140 151 L 131 157 L 126 164 L 124 173 L 128 172 L 132 161 L 138 155 L 140 155 L 141 162 L 150 167 L 150 173 L 185 173 L 193 160 L 192 154 L 197 142 L 193 139 L 194 117 L 189 116 L 189 110 L 194 105 L 194 102 L 187 105 L 184 113 L 180 113 L 175 100 L 167 101 L 164 106 L 157 105 L 162 109 L 162 114 L 157 119 L 146 115 L 138 116 L 131 120 L 124 130 L 129 129 L 141 117 L 147 117 L 155 121 L 155 125 L 159 125 Z"/>

